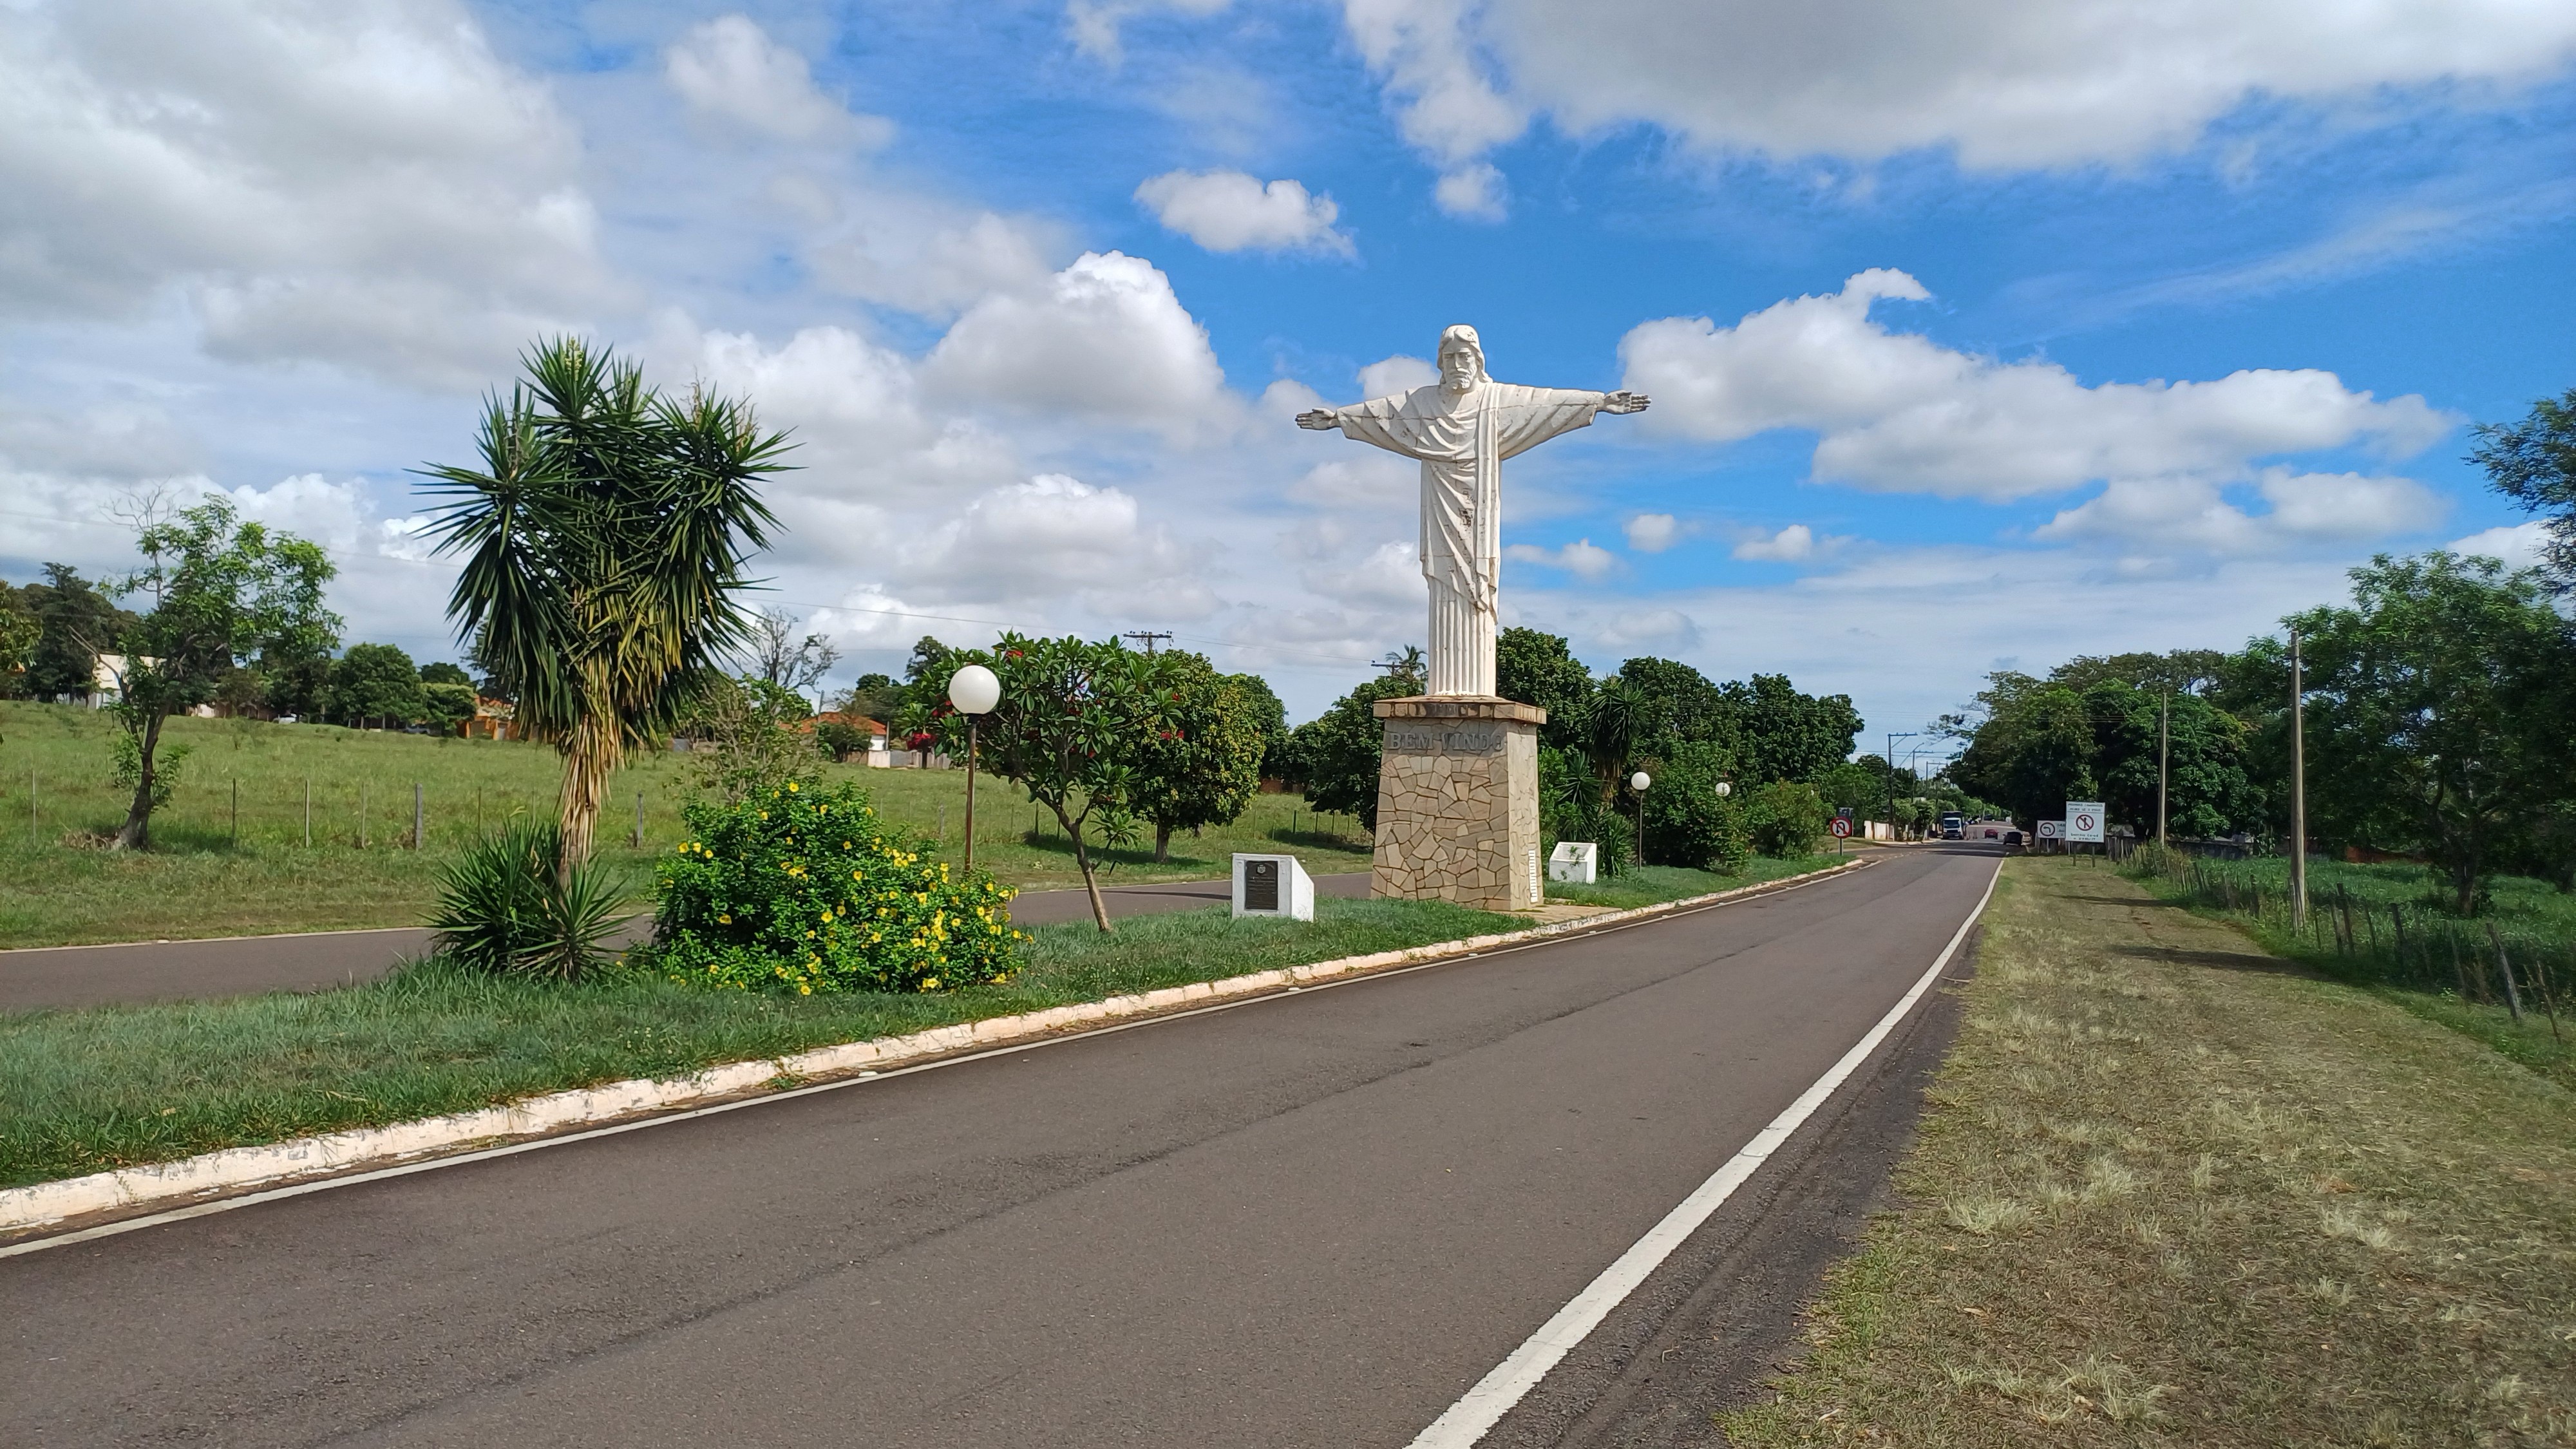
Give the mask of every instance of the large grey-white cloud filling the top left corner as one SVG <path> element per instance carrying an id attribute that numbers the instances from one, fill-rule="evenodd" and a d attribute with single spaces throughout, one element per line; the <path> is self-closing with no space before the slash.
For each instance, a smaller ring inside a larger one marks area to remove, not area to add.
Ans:
<path id="1" fill-rule="evenodd" d="M 0 315 L 474 387 L 603 297 L 580 139 L 453 0 L 82 0 L 0 21 Z"/>

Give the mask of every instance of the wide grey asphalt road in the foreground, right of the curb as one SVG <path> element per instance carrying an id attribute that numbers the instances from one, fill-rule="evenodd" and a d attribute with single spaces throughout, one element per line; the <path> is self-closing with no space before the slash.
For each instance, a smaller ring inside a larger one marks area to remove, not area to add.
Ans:
<path id="1" fill-rule="evenodd" d="M 1891 853 L 0 1258 L 0 1423 L 28 1446 L 1404 1446 L 1824 1075 L 1994 864 Z M 1667 1299 L 1710 1302 L 1638 1294 Z M 1574 1423 L 1569 1392 L 1530 1403 Z"/>

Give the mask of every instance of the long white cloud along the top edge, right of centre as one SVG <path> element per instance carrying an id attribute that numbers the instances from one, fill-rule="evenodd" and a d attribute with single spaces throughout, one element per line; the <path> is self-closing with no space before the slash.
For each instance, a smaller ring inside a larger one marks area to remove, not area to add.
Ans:
<path id="1" fill-rule="evenodd" d="M 2509 103 L 2576 59 L 2530 0 L 1345 0 L 1404 137 L 1455 168 L 1535 113 L 1659 126 L 1713 152 L 1978 170 L 2133 162 L 2259 101 Z"/>

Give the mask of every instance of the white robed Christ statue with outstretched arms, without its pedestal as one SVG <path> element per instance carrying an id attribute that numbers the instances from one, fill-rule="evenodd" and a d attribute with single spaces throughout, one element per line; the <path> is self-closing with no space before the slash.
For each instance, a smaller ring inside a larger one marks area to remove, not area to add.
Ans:
<path id="1" fill-rule="evenodd" d="M 1638 392 L 1515 387 L 1484 374 L 1476 327 L 1440 333 L 1440 382 L 1396 397 L 1298 413 L 1422 462 L 1422 578 L 1432 585 L 1430 694 L 1494 694 L 1494 593 L 1502 588 L 1502 459 L 1595 413 L 1643 413 Z"/>

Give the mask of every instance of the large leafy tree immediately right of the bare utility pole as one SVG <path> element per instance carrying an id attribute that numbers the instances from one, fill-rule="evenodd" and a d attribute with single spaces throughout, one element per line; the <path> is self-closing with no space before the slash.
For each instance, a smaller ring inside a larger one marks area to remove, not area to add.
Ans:
<path id="1" fill-rule="evenodd" d="M 2308 663 L 2308 792 L 2324 835 L 2427 853 L 2468 915 L 2568 781 L 2576 645 L 2535 570 L 2380 554 L 2352 608 L 2290 619 Z"/>

